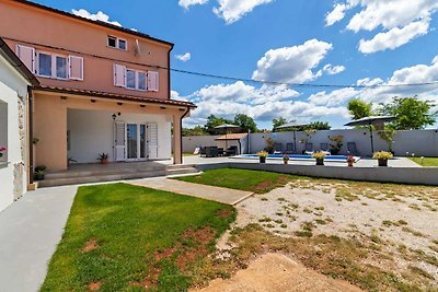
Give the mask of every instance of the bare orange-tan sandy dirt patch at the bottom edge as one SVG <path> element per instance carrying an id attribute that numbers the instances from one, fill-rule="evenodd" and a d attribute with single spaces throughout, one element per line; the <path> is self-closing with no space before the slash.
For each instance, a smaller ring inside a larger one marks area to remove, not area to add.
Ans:
<path id="1" fill-rule="evenodd" d="M 194 292 L 196 290 L 192 290 Z M 237 291 L 299 291 L 299 292 L 361 292 L 346 281 L 334 280 L 308 269 L 279 254 L 267 254 L 238 271 L 231 279 L 217 279 L 199 292 Z"/>

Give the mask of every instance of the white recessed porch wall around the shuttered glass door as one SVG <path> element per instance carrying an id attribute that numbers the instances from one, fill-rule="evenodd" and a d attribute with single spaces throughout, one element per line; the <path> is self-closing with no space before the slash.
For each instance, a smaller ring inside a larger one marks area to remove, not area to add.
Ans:
<path id="1" fill-rule="evenodd" d="M 99 153 L 108 153 L 114 161 L 114 112 L 69 109 L 67 129 L 70 131 L 68 156 L 79 163 L 95 163 Z M 131 124 L 158 124 L 158 159 L 171 159 L 171 116 L 122 114 L 116 121 Z"/>

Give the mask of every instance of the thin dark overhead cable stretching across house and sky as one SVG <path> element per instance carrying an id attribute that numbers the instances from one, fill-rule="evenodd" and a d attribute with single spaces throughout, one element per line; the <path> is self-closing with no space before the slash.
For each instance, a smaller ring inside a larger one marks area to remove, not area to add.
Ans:
<path id="1" fill-rule="evenodd" d="M 21 40 L 21 39 L 16 39 L 16 38 L 10 38 L 10 37 L 5 37 L 5 36 L 1 36 L 1 37 L 3 39 L 9 39 L 9 40 L 16 42 L 16 43 L 23 43 L 23 44 L 33 45 L 33 46 L 41 46 L 41 47 L 45 47 L 45 48 L 49 48 L 49 49 L 69 51 L 69 52 L 72 52 L 72 54 L 78 54 L 78 55 L 82 55 L 82 56 L 89 56 L 89 57 L 97 58 L 97 59 L 105 59 L 105 60 L 123 62 L 123 63 L 129 63 L 129 65 L 136 65 L 136 66 L 146 66 L 146 67 L 150 67 L 150 68 L 170 70 L 170 71 L 176 72 L 176 73 L 183 73 L 183 74 L 189 74 L 189 75 L 196 75 L 196 77 L 204 77 L 204 78 L 211 78 L 211 79 L 219 79 L 219 80 L 235 81 L 235 82 L 237 81 L 243 81 L 243 82 L 247 82 L 247 83 L 268 84 L 268 85 L 286 85 L 286 86 L 290 86 L 290 87 L 326 87 L 326 89 L 346 89 L 346 87 L 350 87 L 350 89 L 378 89 L 378 87 L 416 87 L 416 86 L 419 87 L 419 86 L 438 85 L 438 81 L 419 82 L 419 83 L 373 84 L 373 85 L 369 85 L 368 84 L 368 85 L 366 85 L 366 84 L 293 83 L 293 82 L 278 82 L 278 81 L 269 81 L 269 80 L 255 80 L 255 79 L 247 79 L 247 78 L 238 78 L 238 77 L 230 77 L 230 75 L 219 75 L 219 74 L 212 74 L 212 73 L 188 71 L 188 70 L 169 68 L 169 67 L 158 66 L 158 65 L 149 65 L 149 63 L 126 61 L 126 60 L 120 60 L 120 59 L 116 59 L 116 58 L 110 58 L 110 57 L 105 57 L 105 56 L 100 56 L 100 55 L 94 55 L 94 54 L 89 54 L 89 52 L 67 49 L 67 48 L 62 48 L 62 47 L 43 45 L 43 44 L 38 44 L 38 43 L 32 43 L 32 42 Z"/>

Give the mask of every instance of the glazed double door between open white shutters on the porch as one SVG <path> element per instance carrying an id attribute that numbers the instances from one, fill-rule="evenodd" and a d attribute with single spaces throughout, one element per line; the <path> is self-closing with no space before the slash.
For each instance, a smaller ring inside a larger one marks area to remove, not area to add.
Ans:
<path id="1" fill-rule="evenodd" d="M 126 159 L 128 161 L 146 160 L 146 125 L 126 125 Z"/>

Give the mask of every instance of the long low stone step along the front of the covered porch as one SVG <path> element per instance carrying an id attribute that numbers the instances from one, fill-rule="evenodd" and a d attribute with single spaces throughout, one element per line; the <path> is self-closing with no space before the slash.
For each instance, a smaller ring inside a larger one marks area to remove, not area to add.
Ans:
<path id="1" fill-rule="evenodd" d="M 39 182 L 39 187 L 56 187 L 67 185 L 79 185 L 79 184 L 91 184 L 91 183 L 104 183 L 115 182 L 124 179 L 138 179 L 155 176 L 165 176 L 165 171 L 157 172 L 138 172 L 138 173 L 118 173 L 118 174 L 101 174 L 95 176 L 79 176 L 79 177 L 66 177 L 66 178 L 50 178 Z"/>

